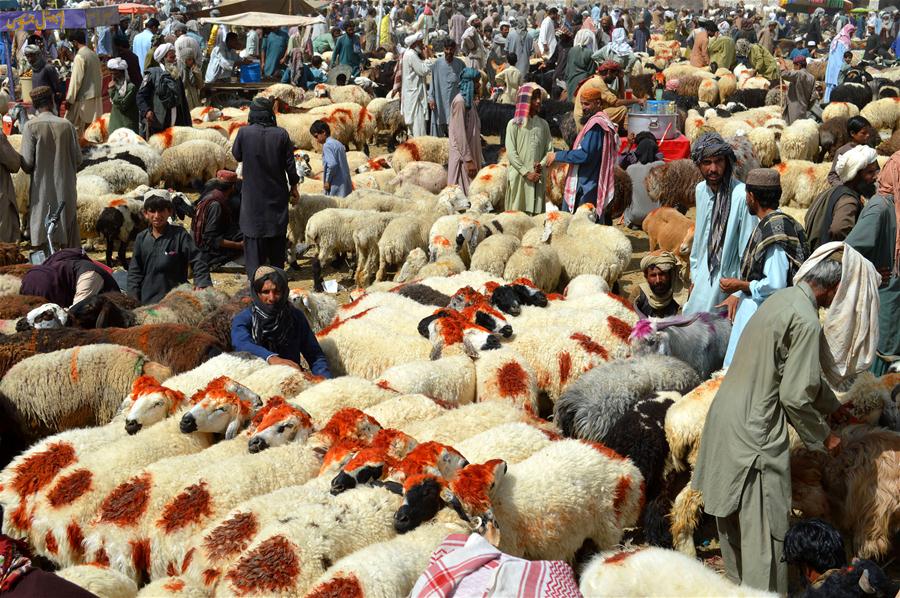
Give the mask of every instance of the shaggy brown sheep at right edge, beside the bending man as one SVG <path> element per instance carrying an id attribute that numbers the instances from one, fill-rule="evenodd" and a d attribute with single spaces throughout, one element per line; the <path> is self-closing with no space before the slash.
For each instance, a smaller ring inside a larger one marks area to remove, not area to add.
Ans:
<path id="1" fill-rule="evenodd" d="M 835 523 L 861 558 L 891 554 L 900 532 L 900 434 L 848 426 L 835 456 L 795 449 L 791 478 L 794 508 L 804 517 Z"/>

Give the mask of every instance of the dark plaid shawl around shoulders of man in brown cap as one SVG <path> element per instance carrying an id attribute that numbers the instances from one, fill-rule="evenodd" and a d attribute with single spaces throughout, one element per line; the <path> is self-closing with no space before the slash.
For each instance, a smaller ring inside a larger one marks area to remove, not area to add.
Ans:
<path id="1" fill-rule="evenodd" d="M 760 280 L 763 277 L 766 250 L 780 245 L 788 258 L 788 284 L 797 270 L 809 257 L 806 233 L 796 220 L 781 212 L 772 212 L 759 221 L 744 250 L 741 261 L 743 280 Z"/>

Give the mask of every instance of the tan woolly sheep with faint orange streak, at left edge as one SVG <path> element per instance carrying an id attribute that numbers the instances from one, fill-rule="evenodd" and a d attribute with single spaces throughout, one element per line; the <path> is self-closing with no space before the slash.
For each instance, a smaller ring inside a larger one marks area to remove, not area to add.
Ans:
<path id="1" fill-rule="evenodd" d="M 34 441 L 73 427 L 107 423 L 142 372 L 159 379 L 170 375 L 165 366 L 117 345 L 35 355 L 0 380 L 0 404 L 15 422 L 16 435 Z M 41 384 L 36 386 L 36 380 Z"/>

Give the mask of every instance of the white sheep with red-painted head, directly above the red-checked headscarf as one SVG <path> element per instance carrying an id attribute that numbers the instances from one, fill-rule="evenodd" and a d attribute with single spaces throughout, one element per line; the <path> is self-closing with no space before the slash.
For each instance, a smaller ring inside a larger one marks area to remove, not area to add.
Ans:
<path id="1" fill-rule="evenodd" d="M 519 463 L 463 468 L 449 481 L 447 502 L 481 518 L 480 528 L 499 527 L 507 554 L 573 562 L 586 540 L 600 549 L 620 542 L 637 521 L 643 483 L 637 467 L 607 447 L 563 439 Z"/>

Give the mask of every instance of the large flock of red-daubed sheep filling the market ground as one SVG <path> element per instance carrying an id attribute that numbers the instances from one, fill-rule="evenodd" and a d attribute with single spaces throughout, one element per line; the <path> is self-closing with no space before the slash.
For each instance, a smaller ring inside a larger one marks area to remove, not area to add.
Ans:
<path id="1" fill-rule="evenodd" d="M 730 79 L 733 95 L 752 77 L 668 69 L 680 91 L 696 77 L 694 96 L 704 94 L 685 114 L 689 137 L 728 137 L 738 176 L 777 164 L 788 209 L 808 207 L 802 177 L 824 181 L 829 123 L 855 105 L 785 127 L 772 106 L 729 112 Z M 446 140 L 411 139 L 376 159 L 351 151 L 355 191 L 321 195 L 312 120 L 364 150 L 393 138 L 397 106 L 356 86 L 265 93 L 306 177 L 292 245 L 315 247 L 317 286 L 339 256 L 356 263 L 349 303 L 291 291 L 335 378 L 231 352 L 246 289 L 179 288 L 151 306 L 104 294 L 70 314 L 73 327 L 31 330 L 22 316 L 41 301 L 18 295 L 27 266 L 4 253 L 0 408 L 16 448 L 0 472 L 4 533 L 103 597 L 405 595 L 446 536 L 471 531 L 515 556 L 568 561 L 585 595 L 768 595 L 686 556 L 703 504 L 689 481 L 727 320 L 640 319 L 610 292 L 632 260 L 628 237 L 596 224 L 591 205 L 502 211 L 502 153 L 465 195 L 443 184 Z M 861 108 L 885 138 L 897 128 L 900 102 Z M 193 116 L 194 127 L 146 141 L 107 134 L 103 119 L 90 127 L 78 176 L 85 238 L 123 247 L 156 186 L 186 190 L 239 167 L 228 150 L 246 112 Z M 551 169 L 550 204 L 563 175 Z M 692 221 L 673 208 L 692 206 L 698 180 L 681 160 L 647 181 L 666 206 L 645 222 L 651 245 L 682 259 Z M 21 193 L 23 178 L 15 184 Z M 617 169 L 615 205 L 630 196 Z M 831 421 L 843 450 L 792 447 L 794 507 L 869 558 L 896 550 L 900 530 L 898 388 L 897 373 L 859 376 Z M 650 547 L 623 551 L 633 538 Z"/>

